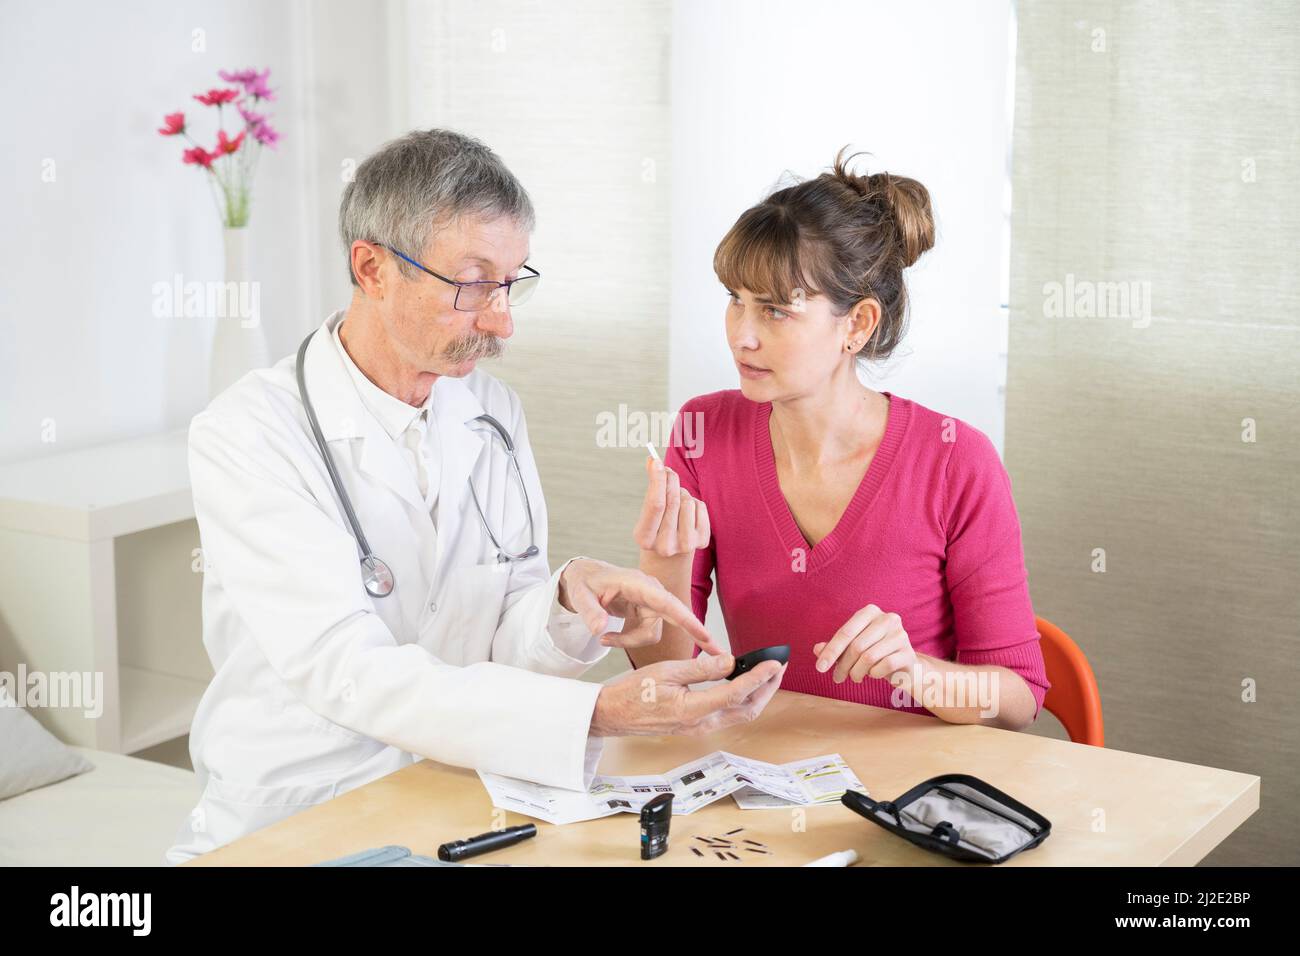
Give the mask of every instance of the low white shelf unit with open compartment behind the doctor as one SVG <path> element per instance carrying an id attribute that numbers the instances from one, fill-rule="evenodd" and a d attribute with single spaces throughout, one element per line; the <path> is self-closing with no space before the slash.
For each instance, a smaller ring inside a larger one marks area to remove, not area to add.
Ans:
<path id="1" fill-rule="evenodd" d="M 194 548 L 183 429 L 0 466 L 0 670 L 103 674 L 99 717 L 31 709 L 61 740 L 188 732 L 211 678 Z"/>

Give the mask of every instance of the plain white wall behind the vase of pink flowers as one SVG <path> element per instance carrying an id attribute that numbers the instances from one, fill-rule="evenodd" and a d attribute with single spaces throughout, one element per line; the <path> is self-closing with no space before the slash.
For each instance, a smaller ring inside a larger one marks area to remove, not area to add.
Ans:
<path id="1" fill-rule="evenodd" d="M 0 0 L 0 462 L 181 428 L 207 402 L 212 320 L 155 317 L 152 290 L 221 280 L 221 228 L 181 143 L 155 130 L 183 109 L 211 146 L 214 111 L 191 94 L 225 86 L 218 69 L 270 66 L 278 88 L 283 139 L 261 159 L 248 237 L 272 355 L 346 304 L 339 169 L 393 131 L 387 8 L 350 9 Z"/>

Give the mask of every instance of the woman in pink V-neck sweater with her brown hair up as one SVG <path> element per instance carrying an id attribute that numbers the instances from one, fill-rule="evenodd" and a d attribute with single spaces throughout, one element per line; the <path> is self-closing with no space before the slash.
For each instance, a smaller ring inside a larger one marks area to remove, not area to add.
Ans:
<path id="1" fill-rule="evenodd" d="M 832 172 L 746 211 L 714 271 L 740 390 L 689 401 L 647 462 L 642 571 L 732 650 L 789 644 L 788 691 L 1019 730 L 1048 680 L 1011 483 L 989 440 L 861 384 L 933 245 L 915 179 Z M 690 657 L 664 626 L 633 663 Z"/>

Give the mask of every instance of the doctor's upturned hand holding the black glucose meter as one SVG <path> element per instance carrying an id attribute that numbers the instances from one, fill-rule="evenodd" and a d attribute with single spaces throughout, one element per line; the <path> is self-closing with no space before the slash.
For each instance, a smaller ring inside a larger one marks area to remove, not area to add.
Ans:
<path id="1" fill-rule="evenodd" d="M 781 685 L 785 666 L 763 661 L 734 680 L 724 680 L 736 666 L 731 654 L 692 661 L 660 661 L 606 684 L 595 698 L 592 736 L 711 734 L 755 719 Z M 703 691 L 690 684 L 723 683 Z"/>

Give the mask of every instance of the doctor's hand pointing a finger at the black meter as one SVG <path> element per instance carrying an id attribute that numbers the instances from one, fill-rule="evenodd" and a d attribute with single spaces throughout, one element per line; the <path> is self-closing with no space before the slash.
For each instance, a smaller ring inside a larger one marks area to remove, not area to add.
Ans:
<path id="1" fill-rule="evenodd" d="M 647 574 L 603 561 L 577 558 L 560 575 L 560 605 L 582 615 L 588 630 L 612 648 L 658 644 L 663 622 L 685 631 L 708 654 L 722 654 L 708 630 L 686 605 Z M 623 618 L 621 631 L 607 631 L 610 615 Z M 724 675 L 725 676 L 725 675 Z"/>

